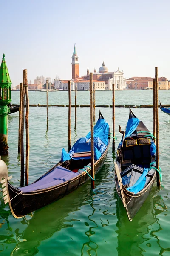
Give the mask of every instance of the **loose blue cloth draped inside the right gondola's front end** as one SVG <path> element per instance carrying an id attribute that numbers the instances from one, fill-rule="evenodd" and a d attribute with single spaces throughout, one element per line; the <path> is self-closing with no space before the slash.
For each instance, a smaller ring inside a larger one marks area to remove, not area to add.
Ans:
<path id="1" fill-rule="evenodd" d="M 149 171 L 148 168 L 144 168 L 141 177 L 139 177 L 139 179 L 136 181 L 136 183 L 133 186 L 127 188 L 127 190 L 135 194 L 141 191 L 144 188 L 144 185 L 146 183 L 146 175 L 148 171 Z"/>

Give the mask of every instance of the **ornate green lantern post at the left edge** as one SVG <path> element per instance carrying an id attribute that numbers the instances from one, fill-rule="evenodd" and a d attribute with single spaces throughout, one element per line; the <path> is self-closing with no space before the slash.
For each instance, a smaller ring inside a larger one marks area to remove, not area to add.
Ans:
<path id="1" fill-rule="evenodd" d="M 5 61 L 0 65 L 0 155 L 8 154 L 8 104 L 11 102 L 11 79 Z"/>

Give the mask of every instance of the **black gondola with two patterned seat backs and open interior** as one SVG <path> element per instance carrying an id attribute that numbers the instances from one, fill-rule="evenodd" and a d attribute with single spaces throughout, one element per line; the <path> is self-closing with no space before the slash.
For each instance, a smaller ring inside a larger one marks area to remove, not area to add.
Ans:
<path id="1" fill-rule="evenodd" d="M 129 120 L 119 143 L 115 185 L 132 221 L 146 200 L 156 178 L 156 146 L 153 136 L 130 109 Z"/>

